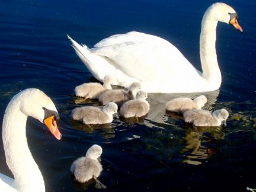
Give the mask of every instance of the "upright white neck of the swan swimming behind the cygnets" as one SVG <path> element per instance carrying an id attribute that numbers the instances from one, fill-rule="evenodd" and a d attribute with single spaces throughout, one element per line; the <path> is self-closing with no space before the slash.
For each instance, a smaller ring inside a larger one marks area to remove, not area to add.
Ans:
<path id="1" fill-rule="evenodd" d="M 217 20 L 215 10 L 209 7 L 203 16 L 200 34 L 200 57 L 203 78 L 213 89 L 218 89 L 221 84 L 221 73 L 217 62 L 215 49 Z"/>

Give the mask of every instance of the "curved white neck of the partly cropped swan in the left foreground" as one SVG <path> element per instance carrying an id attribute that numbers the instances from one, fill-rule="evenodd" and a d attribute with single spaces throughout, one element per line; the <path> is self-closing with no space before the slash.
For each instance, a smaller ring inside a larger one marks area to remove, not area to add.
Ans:
<path id="1" fill-rule="evenodd" d="M 14 175 L 18 191 L 45 191 L 43 176 L 28 149 L 25 133 L 27 116 L 19 105 L 14 97 L 4 115 L 2 139 L 7 165 Z"/>

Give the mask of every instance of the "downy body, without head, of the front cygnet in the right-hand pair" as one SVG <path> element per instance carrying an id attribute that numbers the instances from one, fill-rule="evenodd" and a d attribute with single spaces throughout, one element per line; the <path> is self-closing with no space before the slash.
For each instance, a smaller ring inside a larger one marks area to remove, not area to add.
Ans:
<path id="1" fill-rule="evenodd" d="M 187 123 L 193 123 L 195 126 L 215 126 L 216 120 L 208 110 L 188 110 L 183 114 Z"/>

